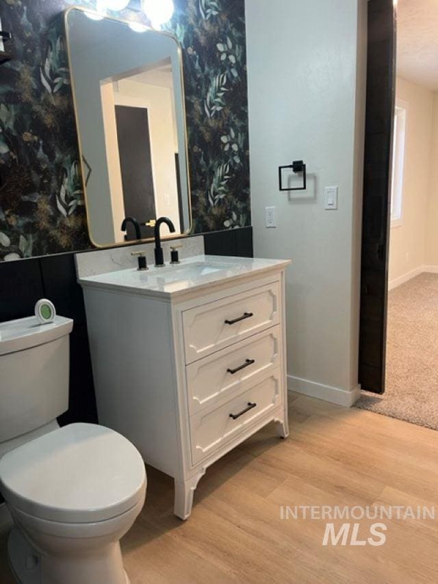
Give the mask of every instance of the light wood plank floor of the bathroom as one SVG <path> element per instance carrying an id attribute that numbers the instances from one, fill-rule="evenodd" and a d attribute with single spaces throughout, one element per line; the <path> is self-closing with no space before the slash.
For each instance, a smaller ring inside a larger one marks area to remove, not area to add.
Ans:
<path id="1" fill-rule="evenodd" d="M 172 481 L 148 468 L 122 541 L 131 584 L 437 581 L 437 520 L 385 519 L 383 546 L 322 546 L 326 520 L 280 518 L 281 505 L 438 504 L 437 431 L 297 395 L 289 418 L 288 440 L 267 427 L 207 470 L 186 522 L 172 514 Z M 376 521 L 359 522 L 359 539 Z M 0 548 L 9 584 L 5 537 Z"/>

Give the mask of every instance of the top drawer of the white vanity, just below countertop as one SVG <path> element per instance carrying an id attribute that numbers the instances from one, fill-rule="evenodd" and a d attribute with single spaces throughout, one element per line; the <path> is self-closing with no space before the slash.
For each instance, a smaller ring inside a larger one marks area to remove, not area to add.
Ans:
<path id="1" fill-rule="evenodd" d="M 279 294 L 276 281 L 183 312 L 185 363 L 278 324 Z"/>

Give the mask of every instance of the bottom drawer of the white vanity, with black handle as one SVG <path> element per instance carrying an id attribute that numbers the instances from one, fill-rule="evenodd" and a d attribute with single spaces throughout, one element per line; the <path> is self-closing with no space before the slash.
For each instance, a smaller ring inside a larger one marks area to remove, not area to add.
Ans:
<path id="1" fill-rule="evenodd" d="M 217 409 L 192 416 L 192 464 L 198 464 L 281 403 L 281 369 L 278 368 Z"/>

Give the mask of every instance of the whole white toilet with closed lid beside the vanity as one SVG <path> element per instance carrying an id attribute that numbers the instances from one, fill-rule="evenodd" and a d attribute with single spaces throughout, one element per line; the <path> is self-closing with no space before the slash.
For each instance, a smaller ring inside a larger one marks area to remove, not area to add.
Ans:
<path id="1" fill-rule="evenodd" d="M 138 450 L 96 424 L 60 428 L 69 333 L 57 316 L 0 323 L 0 492 L 14 519 L 12 570 L 23 584 L 126 584 L 119 540 L 140 513 Z"/>

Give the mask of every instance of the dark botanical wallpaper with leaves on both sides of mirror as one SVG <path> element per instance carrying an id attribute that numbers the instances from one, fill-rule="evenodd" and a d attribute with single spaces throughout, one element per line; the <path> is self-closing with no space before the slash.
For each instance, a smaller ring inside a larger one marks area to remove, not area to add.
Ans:
<path id="1" fill-rule="evenodd" d="M 91 247 L 61 16 L 68 5 L 0 3 L 2 28 L 14 37 L 14 58 L 0 66 L 0 261 Z M 183 47 L 194 231 L 244 227 L 244 0 L 175 0 L 175 8 L 167 28 Z"/>

